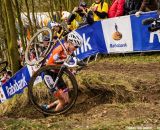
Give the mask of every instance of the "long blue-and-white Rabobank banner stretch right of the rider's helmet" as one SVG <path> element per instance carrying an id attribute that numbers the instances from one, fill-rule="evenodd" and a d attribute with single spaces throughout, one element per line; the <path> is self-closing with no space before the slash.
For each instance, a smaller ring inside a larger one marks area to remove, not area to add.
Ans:
<path id="1" fill-rule="evenodd" d="M 76 51 L 80 59 L 96 53 L 128 53 L 160 50 L 160 31 L 149 32 L 142 24 L 146 18 L 158 18 L 156 11 L 140 17 L 128 15 L 105 19 L 76 30 L 84 44 Z"/>

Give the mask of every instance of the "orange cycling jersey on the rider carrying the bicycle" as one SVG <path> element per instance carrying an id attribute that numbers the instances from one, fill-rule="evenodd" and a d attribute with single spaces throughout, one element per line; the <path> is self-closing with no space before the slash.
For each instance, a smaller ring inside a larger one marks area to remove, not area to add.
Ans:
<path id="1" fill-rule="evenodd" d="M 53 65 L 55 64 L 55 61 L 66 59 L 66 57 L 63 47 L 59 45 L 52 51 L 52 54 L 47 61 L 47 65 Z"/>

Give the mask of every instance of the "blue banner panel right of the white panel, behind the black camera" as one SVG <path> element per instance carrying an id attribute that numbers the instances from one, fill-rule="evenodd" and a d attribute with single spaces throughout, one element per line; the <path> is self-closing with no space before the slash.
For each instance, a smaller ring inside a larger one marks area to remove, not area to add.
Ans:
<path id="1" fill-rule="evenodd" d="M 149 12 L 140 17 L 131 16 L 133 51 L 160 50 L 160 31 L 149 32 L 149 26 L 142 25 L 142 21 L 149 17 L 157 18 L 158 15 L 156 12 Z"/>

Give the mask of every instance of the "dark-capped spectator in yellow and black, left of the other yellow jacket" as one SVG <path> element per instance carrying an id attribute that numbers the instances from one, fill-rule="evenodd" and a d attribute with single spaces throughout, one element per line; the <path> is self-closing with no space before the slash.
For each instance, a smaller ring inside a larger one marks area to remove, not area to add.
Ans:
<path id="1" fill-rule="evenodd" d="M 87 8 L 87 4 L 85 2 L 81 2 L 79 7 L 75 7 L 68 18 L 68 25 L 71 24 L 73 20 L 78 22 L 78 26 L 82 26 L 84 24 L 92 24 L 93 21 L 93 13 L 89 11 Z"/>

